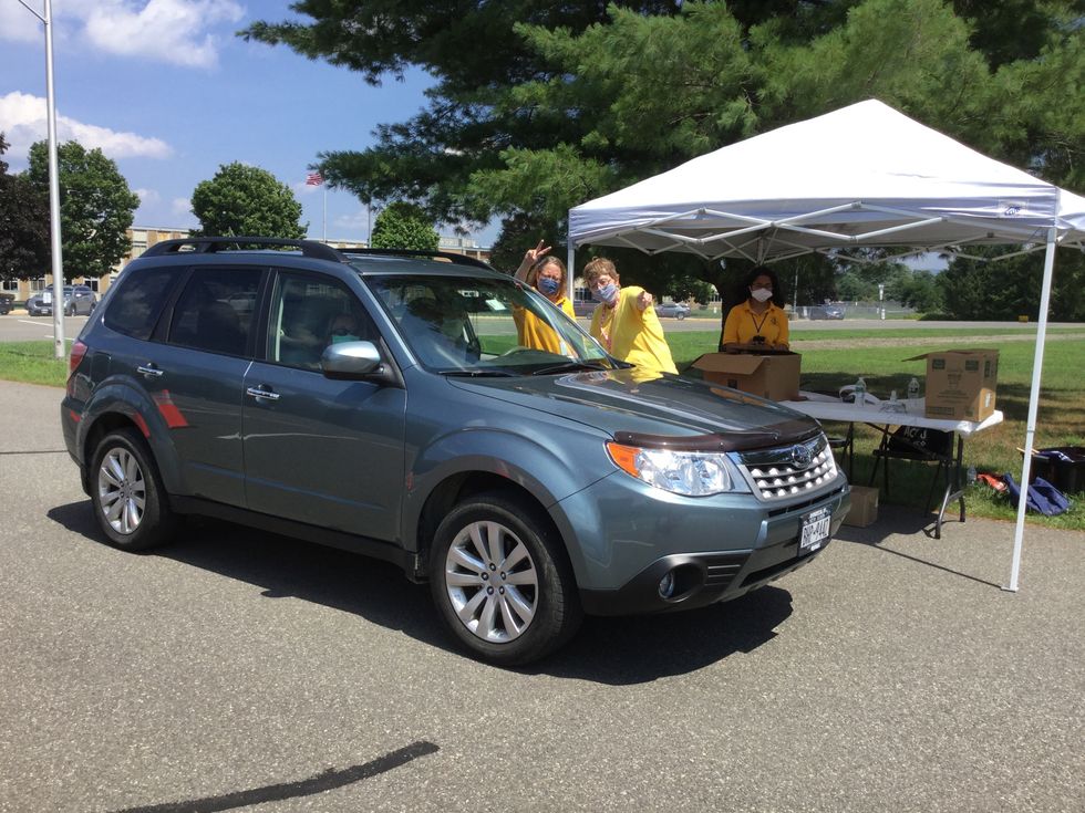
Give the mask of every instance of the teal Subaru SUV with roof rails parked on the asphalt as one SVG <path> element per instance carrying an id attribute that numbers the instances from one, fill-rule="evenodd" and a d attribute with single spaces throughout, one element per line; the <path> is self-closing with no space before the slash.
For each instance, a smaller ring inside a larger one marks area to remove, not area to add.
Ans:
<path id="1" fill-rule="evenodd" d="M 455 254 L 157 243 L 80 333 L 61 420 L 117 548 L 199 513 L 394 562 L 503 665 L 585 613 L 778 579 L 849 504 L 815 421 L 617 361 Z"/>

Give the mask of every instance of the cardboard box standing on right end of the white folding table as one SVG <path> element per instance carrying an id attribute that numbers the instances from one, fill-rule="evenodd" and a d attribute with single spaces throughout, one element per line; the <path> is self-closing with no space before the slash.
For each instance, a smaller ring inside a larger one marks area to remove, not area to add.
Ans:
<path id="1" fill-rule="evenodd" d="M 999 351 L 950 350 L 905 361 L 927 359 L 928 418 L 981 421 L 994 411 Z"/>

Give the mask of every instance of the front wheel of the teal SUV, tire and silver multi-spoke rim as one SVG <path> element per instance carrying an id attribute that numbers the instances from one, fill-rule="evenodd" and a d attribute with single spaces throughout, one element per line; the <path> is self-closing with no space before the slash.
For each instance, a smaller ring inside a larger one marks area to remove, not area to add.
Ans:
<path id="1" fill-rule="evenodd" d="M 459 503 L 437 528 L 430 554 L 434 603 L 479 659 L 538 660 L 580 626 L 566 552 L 539 509 L 524 500 L 492 492 Z"/>

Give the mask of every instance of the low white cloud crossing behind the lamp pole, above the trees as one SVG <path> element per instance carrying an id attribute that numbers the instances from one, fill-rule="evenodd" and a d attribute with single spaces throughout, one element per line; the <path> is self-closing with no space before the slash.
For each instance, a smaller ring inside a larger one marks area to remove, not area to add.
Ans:
<path id="1" fill-rule="evenodd" d="M 0 122 L 4 137 L 11 144 L 8 157 L 12 166 L 27 160 L 30 145 L 45 138 L 45 100 L 29 93 L 12 91 L 0 96 Z M 87 149 L 101 148 L 110 158 L 167 158 L 173 149 L 161 138 L 147 138 L 135 133 L 118 133 L 96 124 L 76 122 L 56 115 L 59 142 L 76 140 Z"/>

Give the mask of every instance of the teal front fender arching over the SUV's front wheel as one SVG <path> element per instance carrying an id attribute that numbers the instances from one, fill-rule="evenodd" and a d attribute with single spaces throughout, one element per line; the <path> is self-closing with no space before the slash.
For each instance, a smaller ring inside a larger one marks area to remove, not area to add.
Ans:
<path id="1" fill-rule="evenodd" d="M 407 470 L 407 488 L 403 500 L 402 539 L 407 550 L 417 551 L 422 512 L 432 496 L 450 480 L 465 475 L 493 475 L 528 492 L 540 507 L 555 517 L 562 532 L 566 550 L 575 571 L 583 563 L 579 545 L 569 544 L 569 530 L 575 527 L 571 518 L 564 517 L 561 500 L 613 472 L 602 432 L 589 427 L 583 434 L 581 447 L 586 454 L 576 458 L 559 454 L 572 444 L 554 449 L 542 442 L 542 437 L 525 437 L 499 428 L 466 428 L 445 435 L 421 449 Z M 592 455 L 588 449 L 598 447 Z M 592 459 L 596 460 L 593 463 Z"/>

